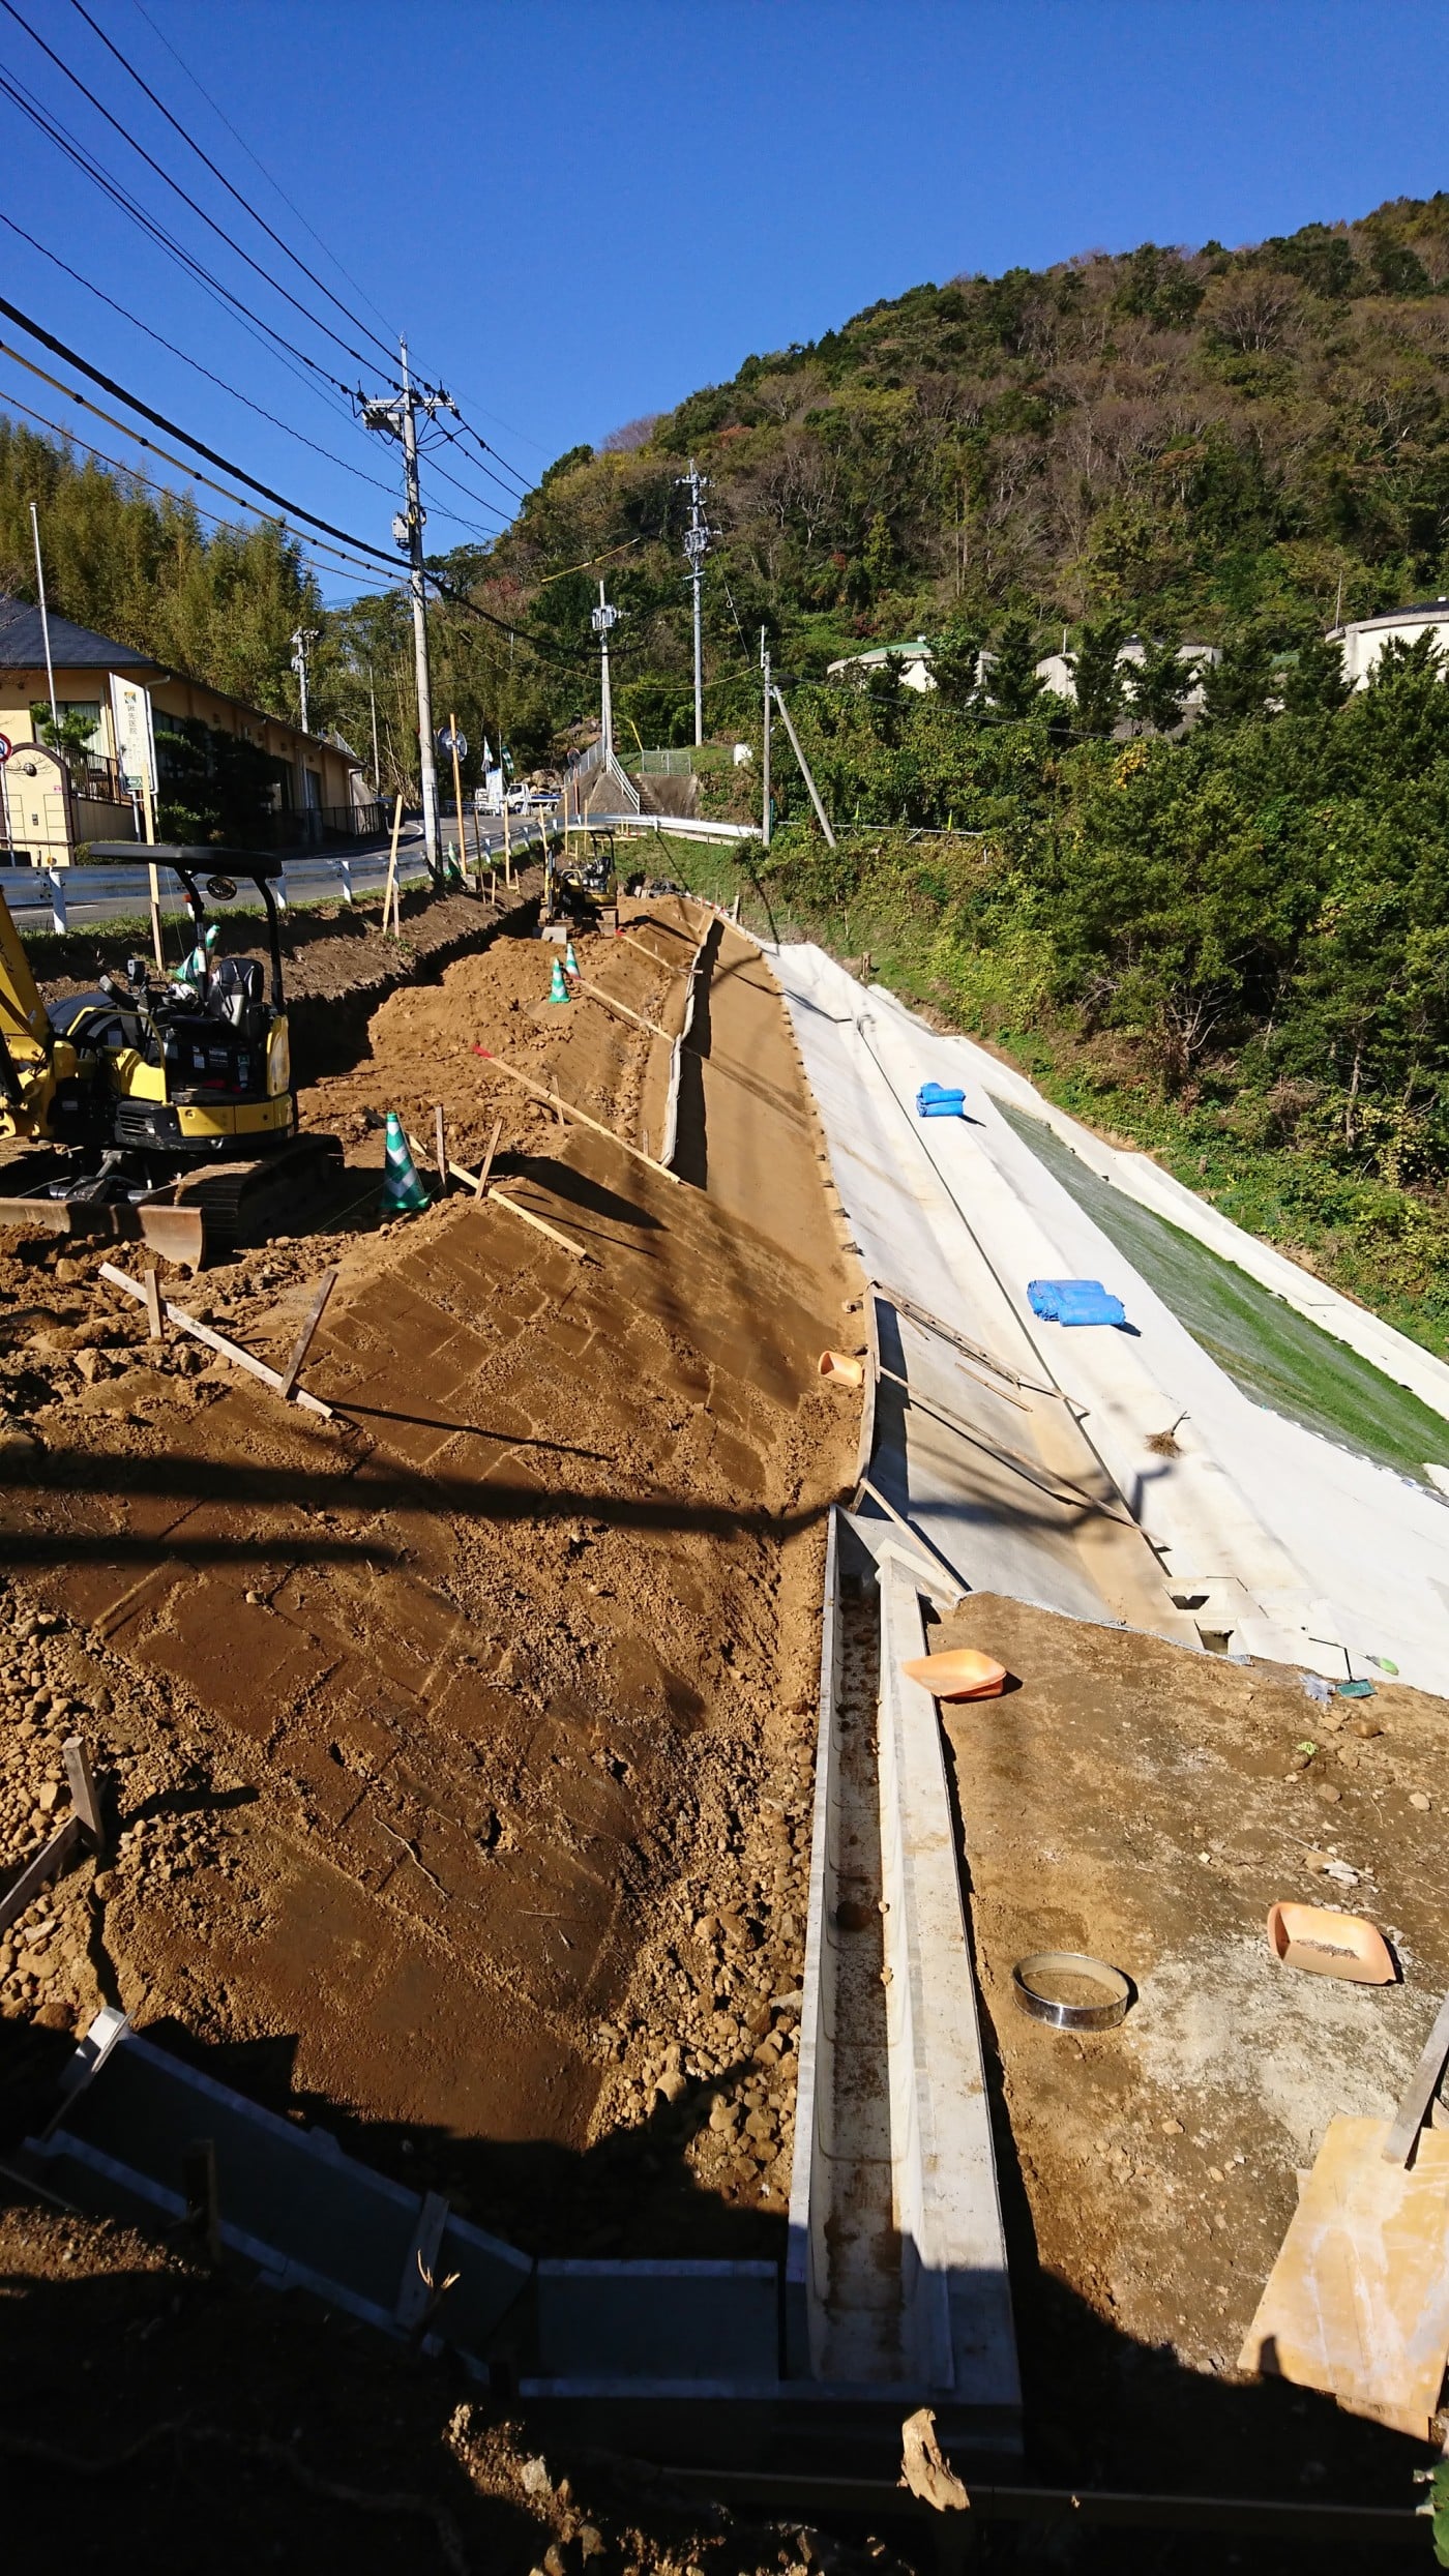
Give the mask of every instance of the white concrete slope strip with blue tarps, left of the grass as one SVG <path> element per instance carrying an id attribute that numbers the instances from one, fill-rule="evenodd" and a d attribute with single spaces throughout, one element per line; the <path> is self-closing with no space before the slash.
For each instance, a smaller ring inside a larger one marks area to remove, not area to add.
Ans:
<path id="1" fill-rule="evenodd" d="M 982 1087 L 980 1048 L 923 1028 L 879 987 L 866 994 L 817 948 L 786 945 L 771 963 L 861 1242 L 874 1255 L 882 1224 L 900 1211 L 897 1262 L 923 1283 L 923 1303 L 949 1309 L 975 1239 L 1029 1365 L 1049 1368 L 1083 1412 L 1171 1592 L 1199 1605 L 1201 1633 L 1330 1677 L 1387 1656 L 1405 1682 L 1449 1695 L 1449 1595 L 1439 1589 L 1449 1525 L 1439 1497 L 1253 1404 L 1011 1131 Z M 962 1084 L 967 1121 L 915 1121 L 923 1079 Z M 910 1175 L 900 1188 L 879 1144 L 882 1082 L 895 1105 L 892 1157 Z M 913 1126 L 915 1157 L 905 1141 Z M 861 1151 L 861 1133 L 877 1139 L 874 1149 Z M 926 1234 L 910 1224 L 926 1195 L 923 1162 L 938 1182 L 933 1208 L 949 1244 L 933 1270 Z M 954 1208 L 954 1234 L 944 1206 Z M 1031 1316 L 1029 1278 L 1062 1275 L 1116 1288 L 1132 1332 L 1062 1332 Z M 1181 1414 L 1178 1453 L 1155 1453 L 1150 1437 Z"/>

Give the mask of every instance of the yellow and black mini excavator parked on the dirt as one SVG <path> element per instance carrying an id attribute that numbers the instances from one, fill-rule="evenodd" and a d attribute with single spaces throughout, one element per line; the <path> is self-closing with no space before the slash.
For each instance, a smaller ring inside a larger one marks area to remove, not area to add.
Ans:
<path id="1" fill-rule="evenodd" d="M 297 1231 L 335 1190 L 335 1136 L 299 1136 L 281 979 L 281 858 L 155 842 L 180 878 L 191 956 L 175 976 L 126 958 L 95 992 L 49 1010 L 0 894 L 0 1226 L 142 1239 L 201 1270 Z M 134 860 L 134 842 L 98 842 Z M 204 873 L 206 871 L 206 873 Z M 206 894 L 237 878 L 266 907 L 271 994 L 255 958 L 211 958 Z M 5 1146 L 5 1139 L 13 1144 Z"/>

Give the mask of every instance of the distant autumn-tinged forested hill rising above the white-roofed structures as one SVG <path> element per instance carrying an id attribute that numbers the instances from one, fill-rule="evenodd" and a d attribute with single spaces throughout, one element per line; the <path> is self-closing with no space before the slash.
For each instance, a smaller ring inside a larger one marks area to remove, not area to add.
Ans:
<path id="1" fill-rule="evenodd" d="M 1013 608 L 1042 644 L 1119 611 L 1289 647 L 1338 598 L 1361 616 L 1444 587 L 1449 196 L 1253 250 L 918 286 L 559 459 L 492 582 L 578 641 L 590 574 L 536 585 L 611 554 L 647 739 L 683 706 L 691 453 L 722 531 L 709 708 L 730 721 L 761 623 L 804 675 L 861 639 L 990 634 Z"/>

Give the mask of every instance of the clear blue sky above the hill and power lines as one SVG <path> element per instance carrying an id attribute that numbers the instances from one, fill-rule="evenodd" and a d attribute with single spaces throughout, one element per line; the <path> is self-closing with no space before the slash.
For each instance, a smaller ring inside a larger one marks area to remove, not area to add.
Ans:
<path id="1" fill-rule="evenodd" d="M 1441 0 L 144 0 L 144 15 L 137 0 L 85 5 L 353 314 L 382 340 L 407 327 L 420 366 L 523 482 L 562 448 L 732 374 L 748 350 L 810 340 L 923 278 L 1140 240 L 1248 242 L 1449 180 Z M 224 196 L 72 0 L 28 0 L 23 15 L 224 240 L 5 18 L 10 80 L 250 312 L 358 381 L 366 371 L 320 327 L 330 319 L 382 371 L 382 350 Z M 0 209 L 88 281 L 0 232 L 13 304 L 263 482 L 387 544 L 392 451 L 348 420 L 338 392 L 219 312 L 8 98 Z M 0 337 L 41 355 L 8 325 Z M 232 389 L 330 456 L 240 407 Z M 0 358 L 8 397 L 64 417 L 52 389 Z M 178 479 L 116 433 L 90 435 Z M 431 482 L 438 549 L 492 531 L 516 487 L 511 474 L 492 482 L 477 451 L 472 461 L 443 451 L 441 464 L 472 489 Z M 320 572 L 333 598 L 356 587 Z"/>

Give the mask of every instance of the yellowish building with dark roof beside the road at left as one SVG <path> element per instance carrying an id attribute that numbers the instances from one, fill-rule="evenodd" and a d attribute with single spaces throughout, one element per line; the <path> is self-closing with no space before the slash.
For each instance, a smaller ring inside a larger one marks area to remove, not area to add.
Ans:
<path id="1" fill-rule="evenodd" d="M 338 848 L 376 827 L 376 791 L 343 742 L 162 670 L 72 618 L 49 618 L 49 667 L 59 716 L 90 719 L 85 750 L 70 757 L 46 750 L 31 714 L 52 698 L 41 613 L 0 598 L 0 866 L 70 868 L 93 840 L 144 837 L 147 799 L 165 804 L 175 791 L 188 801 L 227 737 L 258 755 L 273 848 Z"/>

